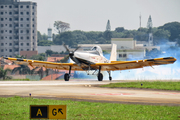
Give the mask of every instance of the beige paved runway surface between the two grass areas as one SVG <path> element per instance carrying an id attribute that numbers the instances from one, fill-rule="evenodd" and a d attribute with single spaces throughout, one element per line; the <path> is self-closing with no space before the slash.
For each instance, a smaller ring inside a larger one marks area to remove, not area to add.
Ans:
<path id="1" fill-rule="evenodd" d="M 125 81 L 112 81 L 125 82 Z M 179 91 L 100 88 L 109 81 L 0 81 L 0 96 L 180 106 Z"/>

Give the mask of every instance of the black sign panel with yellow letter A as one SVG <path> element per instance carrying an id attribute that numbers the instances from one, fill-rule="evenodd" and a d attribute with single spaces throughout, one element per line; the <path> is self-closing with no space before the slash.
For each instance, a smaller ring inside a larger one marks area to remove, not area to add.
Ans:
<path id="1" fill-rule="evenodd" d="M 30 106 L 30 119 L 37 119 L 37 118 L 48 119 L 48 106 L 45 105 Z"/>

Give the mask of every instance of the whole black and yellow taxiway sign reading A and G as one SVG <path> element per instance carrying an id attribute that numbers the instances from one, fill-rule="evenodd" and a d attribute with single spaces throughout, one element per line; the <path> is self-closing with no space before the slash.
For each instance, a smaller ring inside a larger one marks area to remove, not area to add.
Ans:
<path id="1" fill-rule="evenodd" d="M 66 119 L 66 105 L 30 105 L 30 119 Z"/>

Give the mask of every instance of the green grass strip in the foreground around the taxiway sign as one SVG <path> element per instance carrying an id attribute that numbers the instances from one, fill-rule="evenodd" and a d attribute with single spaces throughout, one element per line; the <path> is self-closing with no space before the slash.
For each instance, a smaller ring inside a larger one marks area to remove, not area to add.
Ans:
<path id="1" fill-rule="evenodd" d="M 68 120 L 180 120 L 179 106 L 0 97 L 0 120 L 29 119 L 30 105 L 67 105 Z"/>

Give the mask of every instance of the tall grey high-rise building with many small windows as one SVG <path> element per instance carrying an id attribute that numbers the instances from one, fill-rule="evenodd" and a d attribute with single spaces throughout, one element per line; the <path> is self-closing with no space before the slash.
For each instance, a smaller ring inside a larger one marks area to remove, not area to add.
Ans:
<path id="1" fill-rule="evenodd" d="M 37 4 L 0 0 L 0 56 L 37 51 Z"/>

